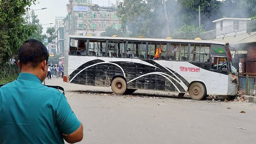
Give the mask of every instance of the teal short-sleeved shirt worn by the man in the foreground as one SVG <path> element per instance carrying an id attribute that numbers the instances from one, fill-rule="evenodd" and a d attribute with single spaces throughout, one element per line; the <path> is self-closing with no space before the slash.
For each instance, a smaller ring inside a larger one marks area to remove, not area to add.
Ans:
<path id="1" fill-rule="evenodd" d="M 0 88 L 0 144 L 64 144 L 79 126 L 65 96 L 33 74 Z"/>

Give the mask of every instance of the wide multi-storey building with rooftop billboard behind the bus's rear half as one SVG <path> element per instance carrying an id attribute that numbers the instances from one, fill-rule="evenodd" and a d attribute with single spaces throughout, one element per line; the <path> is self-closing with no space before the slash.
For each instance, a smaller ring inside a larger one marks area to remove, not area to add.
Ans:
<path id="1" fill-rule="evenodd" d="M 69 0 L 68 16 L 65 20 L 65 37 L 67 35 L 100 36 L 106 28 L 121 29 L 120 19 L 116 14 L 116 5 L 104 7 L 97 4 Z"/>

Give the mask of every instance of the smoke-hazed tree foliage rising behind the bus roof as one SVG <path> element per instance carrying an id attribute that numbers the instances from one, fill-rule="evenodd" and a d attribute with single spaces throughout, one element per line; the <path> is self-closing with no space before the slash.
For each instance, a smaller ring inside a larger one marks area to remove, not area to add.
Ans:
<path id="1" fill-rule="evenodd" d="M 201 24 L 206 30 L 215 29 L 212 21 L 223 15 L 237 18 L 256 16 L 255 0 L 124 0 L 117 7 L 117 14 L 125 35 L 165 38 L 174 31 L 183 30 L 180 29 L 182 26 L 196 28 L 199 25 L 199 5 Z"/>

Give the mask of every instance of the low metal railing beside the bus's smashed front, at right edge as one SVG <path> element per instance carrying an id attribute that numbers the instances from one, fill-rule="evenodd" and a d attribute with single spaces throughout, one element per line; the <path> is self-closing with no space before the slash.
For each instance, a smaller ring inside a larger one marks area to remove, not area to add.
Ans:
<path id="1" fill-rule="evenodd" d="M 256 76 L 239 76 L 239 90 L 246 95 L 256 95 Z"/>

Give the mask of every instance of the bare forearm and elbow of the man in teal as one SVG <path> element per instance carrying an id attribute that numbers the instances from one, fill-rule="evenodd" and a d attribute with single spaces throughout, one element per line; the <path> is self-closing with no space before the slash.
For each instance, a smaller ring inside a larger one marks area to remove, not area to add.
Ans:
<path id="1" fill-rule="evenodd" d="M 76 142 L 79 142 L 83 139 L 83 125 L 80 124 L 79 128 L 71 134 L 63 134 L 63 138 L 65 141 L 67 141 L 70 144 L 74 144 Z"/>

